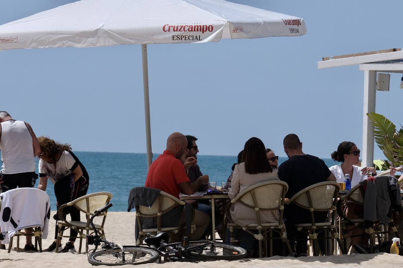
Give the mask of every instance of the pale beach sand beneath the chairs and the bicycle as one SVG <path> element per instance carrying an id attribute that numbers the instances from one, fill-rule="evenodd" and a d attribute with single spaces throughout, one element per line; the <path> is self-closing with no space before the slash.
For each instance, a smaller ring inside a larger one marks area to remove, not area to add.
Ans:
<path id="1" fill-rule="evenodd" d="M 53 212 L 54 214 L 54 212 Z M 53 215 L 52 214 L 52 215 Z M 123 245 L 134 245 L 134 213 L 109 212 L 106 219 L 106 238 L 119 242 Z M 54 224 L 49 225 L 48 239 L 42 239 L 43 248 L 47 248 L 53 241 Z M 63 244 L 67 239 L 64 238 Z M 85 242 L 84 242 L 85 243 Z M 13 244 L 16 245 L 16 241 Z M 20 245 L 25 245 L 25 237 L 22 237 Z M 8 246 L 8 245 L 7 245 Z M 78 250 L 78 240 L 76 242 Z M 83 248 L 85 245 L 83 245 Z M 90 248 L 93 248 L 91 246 Z M 245 259 L 239 261 L 214 261 L 214 262 L 173 262 L 173 263 L 153 263 L 136 267 L 183 267 L 183 268 L 243 268 L 243 267 L 403 267 L 403 257 L 398 255 L 379 254 L 354 254 L 345 256 L 323 256 L 323 257 L 272 257 L 263 259 Z M 0 250 L 0 267 L 92 267 L 87 262 L 87 254 L 79 253 L 58 253 L 55 252 L 15 252 L 10 254 L 6 250 Z M 126 266 L 131 267 L 131 266 Z"/>

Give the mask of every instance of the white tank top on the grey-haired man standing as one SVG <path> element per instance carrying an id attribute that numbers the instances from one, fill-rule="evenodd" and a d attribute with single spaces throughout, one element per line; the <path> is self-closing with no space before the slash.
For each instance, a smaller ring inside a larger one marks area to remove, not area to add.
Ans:
<path id="1" fill-rule="evenodd" d="M 35 171 L 32 136 L 25 122 L 8 120 L 0 124 L 1 172 L 15 174 Z"/>

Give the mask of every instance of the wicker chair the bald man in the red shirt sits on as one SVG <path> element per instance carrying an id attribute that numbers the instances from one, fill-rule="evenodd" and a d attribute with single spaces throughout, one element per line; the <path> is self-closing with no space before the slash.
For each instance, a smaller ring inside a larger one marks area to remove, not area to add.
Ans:
<path id="1" fill-rule="evenodd" d="M 161 232 L 168 233 L 169 237 L 172 237 L 172 235 L 176 233 L 181 233 L 184 235 L 182 230 L 186 227 L 186 224 L 174 227 L 161 227 L 161 216 L 169 211 L 172 211 L 172 209 L 179 205 L 185 205 L 185 202 L 179 200 L 173 195 L 160 191 L 160 195 L 157 197 L 151 207 L 135 206 L 136 220 L 139 228 L 139 237 L 137 237 L 136 245 L 141 245 L 146 237 L 151 237 L 152 235 L 156 235 Z M 143 228 L 143 225 L 141 224 L 141 217 L 157 217 L 157 226 L 154 228 Z M 192 221 L 194 217 L 195 213 L 192 207 Z M 191 233 L 193 233 L 193 230 L 195 229 L 196 225 L 191 225 Z"/>

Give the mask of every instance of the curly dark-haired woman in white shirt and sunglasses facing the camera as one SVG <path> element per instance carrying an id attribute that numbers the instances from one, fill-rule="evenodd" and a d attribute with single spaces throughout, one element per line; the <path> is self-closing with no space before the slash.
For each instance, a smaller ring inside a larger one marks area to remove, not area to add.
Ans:
<path id="1" fill-rule="evenodd" d="M 361 168 L 359 165 L 359 149 L 351 141 L 343 141 L 337 147 L 337 151 L 331 153 L 334 161 L 341 162 L 341 165 L 331 166 L 329 170 L 334 174 L 337 182 L 346 180 L 345 174 L 350 174 L 351 187 L 359 182 L 366 180 L 368 174 L 376 176 L 376 170 L 373 167 Z"/>

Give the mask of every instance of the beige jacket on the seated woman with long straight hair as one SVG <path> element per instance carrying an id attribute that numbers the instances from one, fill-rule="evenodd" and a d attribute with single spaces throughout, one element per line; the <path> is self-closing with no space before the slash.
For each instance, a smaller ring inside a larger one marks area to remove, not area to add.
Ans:
<path id="1" fill-rule="evenodd" d="M 228 193 L 229 198 L 232 200 L 238 193 L 250 186 L 269 180 L 278 180 L 277 169 L 270 173 L 247 174 L 245 172 L 245 163 L 237 164 L 232 175 L 231 190 Z M 245 207 L 241 203 L 232 205 L 231 217 L 234 223 L 242 227 L 251 223 L 258 223 L 256 211 Z M 260 211 L 261 223 L 278 222 L 279 218 L 280 213 L 278 211 Z"/>

